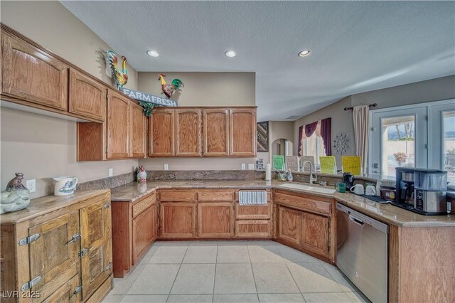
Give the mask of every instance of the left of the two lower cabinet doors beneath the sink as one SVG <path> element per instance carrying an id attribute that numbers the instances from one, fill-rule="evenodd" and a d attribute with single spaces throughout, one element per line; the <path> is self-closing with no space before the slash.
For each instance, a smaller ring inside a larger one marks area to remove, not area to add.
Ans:
<path id="1" fill-rule="evenodd" d="M 278 207 L 278 238 L 301 245 L 301 211 Z"/>

